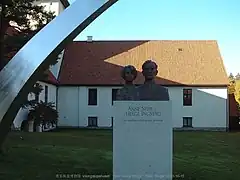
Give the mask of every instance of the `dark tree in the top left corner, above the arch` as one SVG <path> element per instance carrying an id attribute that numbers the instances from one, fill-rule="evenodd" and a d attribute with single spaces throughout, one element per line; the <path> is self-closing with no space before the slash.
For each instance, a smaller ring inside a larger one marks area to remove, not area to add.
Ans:
<path id="1" fill-rule="evenodd" d="M 3 65 L 0 70 L 15 52 L 55 17 L 53 12 L 45 11 L 44 6 L 36 5 L 34 2 L 36 1 L 5 0 L 5 3 L 2 4 L 0 39 L 3 39 L 3 43 L 0 45 L 0 60 Z M 15 29 L 17 33 L 7 34 L 9 28 Z M 51 64 L 56 63 L 57 58 L 53 59 Z"/>

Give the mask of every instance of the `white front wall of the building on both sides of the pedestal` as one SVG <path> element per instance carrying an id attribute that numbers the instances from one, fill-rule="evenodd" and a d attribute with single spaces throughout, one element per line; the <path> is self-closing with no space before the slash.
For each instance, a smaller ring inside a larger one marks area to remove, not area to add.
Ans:
<path id="1" fill-rule="evenodd" d="M 94 88 L 94 87 L 91 87 Z M 98 125 L 111 126 L 112 88 L 98 88 L 98 105 L 88 106 L 87 87 L 59 87 L 58 111 L 59 126 L 87 126 L 89 116 L 98 117 Z M 116 88 L 116 87 L 113 87 Z M 183 106 L 183 88 L 170 87 L 173 101 L 174 127 L 182 127 L 184 116 L 192 116 L 193 127 L 226 128 L 227 126 L 227 89 L 192 88 L 193 105 Z"/>

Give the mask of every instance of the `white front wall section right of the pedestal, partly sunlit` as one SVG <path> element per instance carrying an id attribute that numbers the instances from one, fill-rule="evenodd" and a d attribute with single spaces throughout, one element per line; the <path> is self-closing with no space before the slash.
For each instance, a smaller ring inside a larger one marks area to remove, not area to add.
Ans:
<path id="1" fill-rule="evenodd" d="M 226 128 L 227 89 L 192 88 L 192 106 L 183 106 L 182 87 L 169 88 L 174 127 L 182 127 L 184 116 L 193 118 L 196 128 Z"/>

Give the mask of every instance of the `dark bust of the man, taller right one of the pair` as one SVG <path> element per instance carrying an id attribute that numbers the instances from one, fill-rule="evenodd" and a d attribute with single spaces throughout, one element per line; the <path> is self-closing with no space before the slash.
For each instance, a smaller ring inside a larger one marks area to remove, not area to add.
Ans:
<path id="1" fill-rule="evenodd" d="M 145 77 L 143 85 L 137 90 L 137 100 L 139 101 L 169 101 L 168 89 L 155 83 L 158 73 L 158 65 L 147 60 L 142 65 L 142 74 Z"/>

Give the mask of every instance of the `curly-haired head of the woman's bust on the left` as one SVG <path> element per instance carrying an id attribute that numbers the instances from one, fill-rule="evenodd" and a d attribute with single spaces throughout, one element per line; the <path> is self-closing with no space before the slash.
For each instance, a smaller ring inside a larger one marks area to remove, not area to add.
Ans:
<path id="1" fill-rule="evenodd" d="M 137 70 L 134 66 L 125 66 L 121 71 L 121 76 L 125 80 L 125 84 L 132 84 L 137 77 Z"/>

